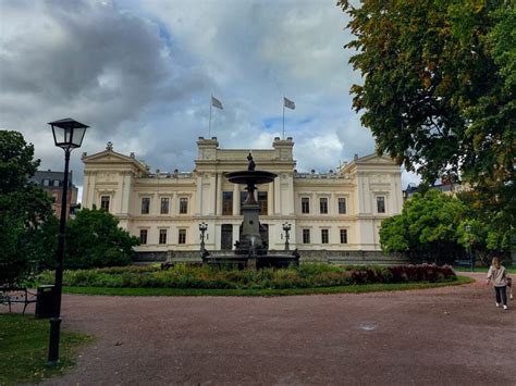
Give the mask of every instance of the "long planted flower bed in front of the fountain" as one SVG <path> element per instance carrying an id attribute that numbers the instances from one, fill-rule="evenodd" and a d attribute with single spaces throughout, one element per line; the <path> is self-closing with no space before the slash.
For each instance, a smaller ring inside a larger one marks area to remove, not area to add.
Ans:
<path id="1" fill-rule="evenodd" d="M 64 286 L 111 288 L 219 288 L 281 289 L 317 288 L 377 283 L 443 283 L 456 281 L 450 266 L 430 264 L 401 266 L 336 266 L 300 264 L 282 270 L 221 270 L 177 264 L 168 271 L 155 266 L 125 266 L 65 271 Z M 40 284 L 53 283 L 44 272 Z"/>

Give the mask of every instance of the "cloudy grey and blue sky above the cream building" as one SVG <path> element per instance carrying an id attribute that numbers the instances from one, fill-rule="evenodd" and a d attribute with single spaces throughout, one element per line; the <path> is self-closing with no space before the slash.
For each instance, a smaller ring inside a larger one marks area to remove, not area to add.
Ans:
<path id="1" fill-rule="evenodd" d="M 193 170 L 211 94 L 222 148 L 270 148 L 286 96 L 297 169 L 325 172 L 374 151 L 352 110 L 346 23 L 335 0 L 0 0 L 0 128 L 62 170 L 46 123 L 89 125 L 72 154 L 81 185 L 81 152 L 108 141 L 151 170 Z"/>

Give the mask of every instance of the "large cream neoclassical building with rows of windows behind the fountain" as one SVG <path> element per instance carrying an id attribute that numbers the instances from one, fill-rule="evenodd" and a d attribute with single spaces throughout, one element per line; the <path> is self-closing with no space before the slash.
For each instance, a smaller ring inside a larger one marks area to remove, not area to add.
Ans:
<path id="1" fill-rule="evenodd" d="M 199 224 L 208 224 L 206 248 L 231 250 L 239 238 L 244 187 L 224 174 L 247 169 L 249 150 L 221 149 L 217 138 L 197 141 L 193 172 L 150 173 L 134 154 L 83 154 L 85 208 L 103 208 L 140 238 L 143 256 L 181 256 L 199 250 Z M 328 173 L 298 173 L 292 138 L 274 138 L 271 149 L 253 150 L 257 170 L 278 174 L 258 187 L 260 223 L 269 249 L 378 251 L 383 219 L 402 210 L 401 170 L 388 157 L 355 158 Z M 189 252 L 188 252 L 189 251 Z M 147 253 L 146 253 L 147 252 Z"/>

